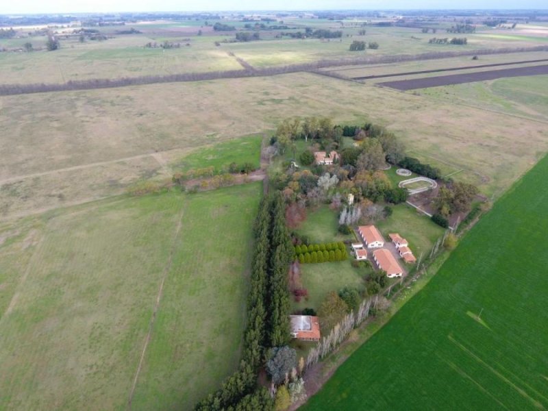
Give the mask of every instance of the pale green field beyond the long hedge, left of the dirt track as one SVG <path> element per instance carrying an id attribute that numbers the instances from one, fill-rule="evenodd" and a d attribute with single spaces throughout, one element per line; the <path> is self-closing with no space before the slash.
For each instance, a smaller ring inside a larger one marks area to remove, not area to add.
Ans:
<path id="1" fill-rule="evenodd" d="M 62 48 L 56 51 L 0 53 L 0 83 L 64 83 L 95 78 L 241 69 L 226 50 L 214 46 L 214 41 L 221 40 L 221 36 L 184 38 L 185 34 L 179 34 L 179 38 L 169 39 L 171 42 L 182 42 L 180 49 L 145 49 L 147 42 L 163 40 L 143 34 L 119 36 L 103 42 L 79 43 L 77 38 L 61 40 Z M 23 40 L 32 42 L 35 47 L 45 44 L 45 38 Z M 185 46 L 187 42 L 190 44 L 188 47 Z M 22 44 L 11 46 L 21 47 Z"/>

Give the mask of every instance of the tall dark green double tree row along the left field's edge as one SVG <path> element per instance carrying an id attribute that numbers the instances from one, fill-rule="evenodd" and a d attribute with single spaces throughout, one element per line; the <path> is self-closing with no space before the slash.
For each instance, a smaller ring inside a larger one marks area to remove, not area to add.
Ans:
<path id="1" fill-rule="evenodd" d="M 288 264 L 292 246 L 279 192 L 265 197 L 253 227 L 255 248 L 247 298 L 247 327 L 240 367 L 196 410 L 273 410 L 273 400 L 257 388 L 257 371 L 265 349 L 290 340 Z"/>

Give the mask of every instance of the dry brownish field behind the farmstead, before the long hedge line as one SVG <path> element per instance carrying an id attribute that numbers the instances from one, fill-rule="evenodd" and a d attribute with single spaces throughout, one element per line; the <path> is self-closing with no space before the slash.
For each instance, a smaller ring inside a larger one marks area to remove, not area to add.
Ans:
<path id="1" fill-rule="evenodd" d="M 521 80 L 519 98 L 538 99 L 536 78 Z M 166 166 L 192 149 L 310 115 L 386 125 L 413 155 L 449 162 L 447 174 L 464 169 L 456 178 L 486 195 L 548 149 L 546 114 L 530 121 L 306 73 L 0 97 L 1 215 L 117 194 L 139 176 L 169 176 Z"/>

